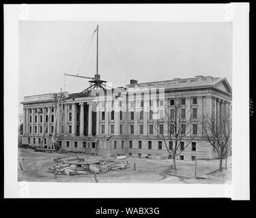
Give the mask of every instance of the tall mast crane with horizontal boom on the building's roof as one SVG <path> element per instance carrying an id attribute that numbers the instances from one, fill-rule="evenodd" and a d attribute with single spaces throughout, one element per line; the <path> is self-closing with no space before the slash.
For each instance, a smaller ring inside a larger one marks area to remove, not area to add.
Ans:
<path id="1" fill-rule="evenodd" d="M 89 82 L 92 83 L 87 89 L 81 91 L 81 93 L 85 93 L 87 91 L 90 91 L 90 95 L 91 95 L 91 91 L 93 89 L 96 89 L 96 95 L 98 96 L 98 90 L 103 90 L 106 91 L 106 88 L 108 87 L 106 85 L 106 81 L 101 80 L 100 79 L 100 74 L 98 74 L 98 33 L 99 33 L 99 26 L 97 25 L 96 29 L 94 30 L 94 33 L 97 33 L 97 50 L 96 50 L 96 74 L 93 77 L 88 77 L 88 76 L 79 76 L 77 75 L 73 75 L 73 74 L 64 74 L 64 76 L 74 76 L 74 77 L 78 77 L 78 78 L 85 78 L 85 79 L 89 79 Z M 110 89 L 113 89 L 112 87 L 108 87 Z M 89 95 L 89 96 L 90 96 Z"/>

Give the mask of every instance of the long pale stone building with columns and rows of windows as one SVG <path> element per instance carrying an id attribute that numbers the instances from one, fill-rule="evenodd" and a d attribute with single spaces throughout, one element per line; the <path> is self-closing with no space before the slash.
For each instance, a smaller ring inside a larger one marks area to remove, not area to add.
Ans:
<path id="1" fill-rule="evenodd" d="M 173 99 L 182 100 L 182 112 L 193 128 L 186 138 L 193 142 L 179 159 L 213 159 L 216 152 L 201 137 L 200 119 L 205 114 L 231 111 L 231 87 L 226 78 L 195 78 L 138 83 L 130 80 L 126 87 L 96 93 L 63 93 L 62 104 L 53 104 L 54 93 L 24 98 L 23 144 L 47 147 L 56 117 L 56 137 L 66 151 L 84 151 L 97 155 L 124 153 L 134 157 L 167 156 L 167 149 L 156 130 L 165 111 L 171 111 Z M 164 129 L 167 127 L 164 126 Z M 170 142 L 171 143 L 171 142 Z"/>

